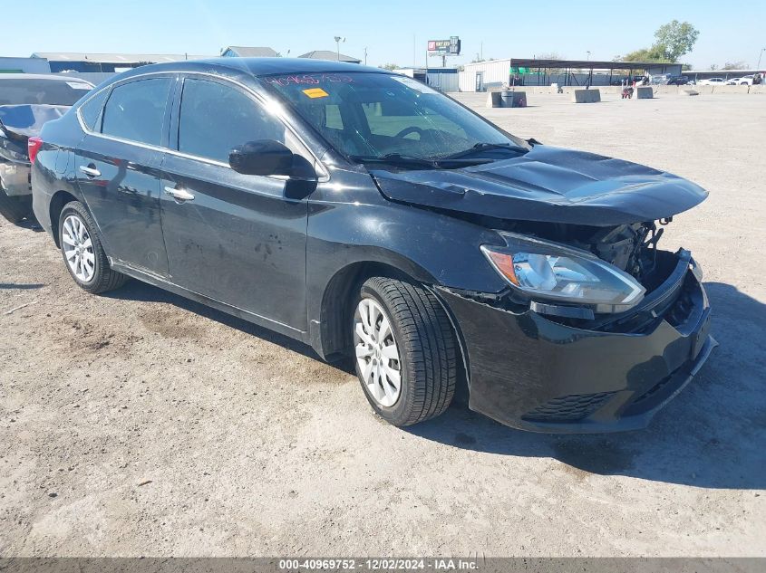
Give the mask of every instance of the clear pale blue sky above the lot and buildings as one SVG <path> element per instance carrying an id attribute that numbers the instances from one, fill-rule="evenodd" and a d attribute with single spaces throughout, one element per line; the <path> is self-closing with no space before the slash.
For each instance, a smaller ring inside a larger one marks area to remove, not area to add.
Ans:
<path id="1" fill-rule="evenodd" d="M 461 38 L 449 63 L 529 58 L 612 60 L 654 42 L 677 19 L 699 31 L 682 62 L 695 69 L 743 61 L 766 47 L 766 2 L 722 0 L 0 0 L 0 56 L 34 52 L 189 53 L 218 55 L 228 45 L 271 46 L 298 56 L 335 50 L 367 63 L 402 67 L 426 60 L 428 40 Z M 34 10 L 30 10 L 30 5 Z M 13 25 L 8 25 L 13 24 Z M 430 58 L 431 66 L 441 58 Z M 766 62 L 763 53 L 761 66 Z"/>

